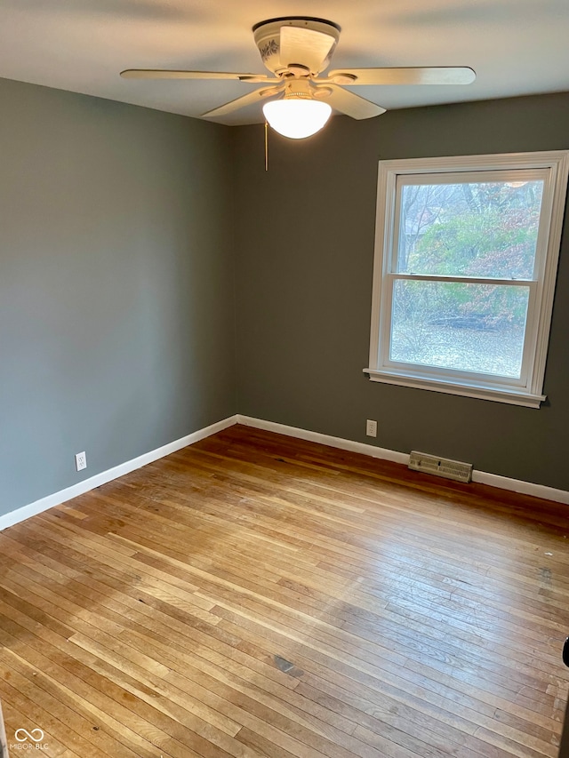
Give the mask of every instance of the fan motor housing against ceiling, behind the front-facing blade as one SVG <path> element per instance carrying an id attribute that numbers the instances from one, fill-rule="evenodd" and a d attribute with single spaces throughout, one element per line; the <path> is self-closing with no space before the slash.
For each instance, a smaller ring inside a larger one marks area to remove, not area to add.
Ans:
<path id="1" fill-rule="evenodd" d="M 320 71 L 324 71 L 328 67 L 336 44 L 340 39 L 341 28 L 338 24 L 334 24 L 333 21 L 315 19 L 310 16 L 284 16 L 283 18 L 269 19 L 255 24 L 252 32 L 255 44 L 260 52 L 260 59 L 268 70 L 276 75 L 285 71 L 291 63 L 299 64 L 308 69 L 313 68 L 309 65 L 308 60 L 301 60 L 305 57 L 302 51 L 298 52 L 300 60 L 281 60 L 281 28 L 284 26 L 308 28 L 333 38 L 333 45 L 328 56 L 318 67 L 318 71 L 312 71 L 311 73 L 317 74 Z"/>

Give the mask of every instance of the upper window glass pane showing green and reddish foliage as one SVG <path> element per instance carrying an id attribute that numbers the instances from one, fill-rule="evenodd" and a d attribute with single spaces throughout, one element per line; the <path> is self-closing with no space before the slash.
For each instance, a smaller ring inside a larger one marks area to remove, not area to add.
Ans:
<path id="1" fill-rule="evenodd" d="M 404 185 L 397 268 L 532 279 L 543 180 Z"/>

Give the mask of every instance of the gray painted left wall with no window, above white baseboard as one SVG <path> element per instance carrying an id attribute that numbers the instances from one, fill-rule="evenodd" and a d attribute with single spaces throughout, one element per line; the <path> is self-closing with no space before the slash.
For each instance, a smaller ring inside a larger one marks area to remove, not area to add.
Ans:
<path id="1" fill-rule="evenodd" d="M 6 80 L 0 114 L 2 515 L 236 396 L 230 130 Z"/>

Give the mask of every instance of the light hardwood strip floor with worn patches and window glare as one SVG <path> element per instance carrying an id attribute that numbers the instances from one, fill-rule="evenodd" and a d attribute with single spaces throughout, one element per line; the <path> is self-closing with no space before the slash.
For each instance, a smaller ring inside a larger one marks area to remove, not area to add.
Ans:
<path id="1" fill-rule="evenodd" d="M 553 758 L 566 526 L 564 506 L 231 427 L 0 534 L 8 743 Z"/>

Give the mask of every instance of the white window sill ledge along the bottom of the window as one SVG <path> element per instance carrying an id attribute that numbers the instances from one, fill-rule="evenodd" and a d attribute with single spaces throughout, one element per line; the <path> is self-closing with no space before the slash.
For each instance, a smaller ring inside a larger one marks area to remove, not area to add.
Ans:
<path id="1" fill-rule="evenodd" d="M 422 377 L 401 374 L 392 374 L 389 371 L 377 371 L 364 369 L 372 381 L 383 384 L 397 384 L 401 387 L 413 387 L 414 389 L 428 389 L 431 392 L 445 392 L 448 395 L 462 395 L 463 397 L 476 397 L 478 400 L 491 400 L 495 403 L 509 403 L 510 405 L 522 405 L 525 408 L 539 408 L 547 395 L 532 395 L 527 392 L 512 389 L 499 389 L 497 387 L 485 387 L 484 385 L 454 384 L 442 379 L 423 379 Z"/>

